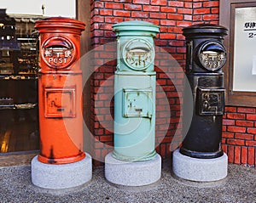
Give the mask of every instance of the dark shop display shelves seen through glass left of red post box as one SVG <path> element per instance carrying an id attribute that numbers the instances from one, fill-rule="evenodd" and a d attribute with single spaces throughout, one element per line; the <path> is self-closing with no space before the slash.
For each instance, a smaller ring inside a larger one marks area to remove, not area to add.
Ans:
<path id="1" fill-rule="evenodd" d="M 39 149 L 36 20 L 0 12 L 0 155 Z"/>

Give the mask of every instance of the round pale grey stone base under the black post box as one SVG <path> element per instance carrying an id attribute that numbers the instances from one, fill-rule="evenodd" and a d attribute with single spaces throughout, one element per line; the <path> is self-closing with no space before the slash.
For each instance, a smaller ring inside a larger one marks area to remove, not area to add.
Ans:
<path id="1" fill-rule="evenodd" d="M 211 182 L 224 179 L 228 174 L 228 156 L 215 159 L 196 159 L 173 152 L 172 171 L 178 178 L 189 181 Z"/>

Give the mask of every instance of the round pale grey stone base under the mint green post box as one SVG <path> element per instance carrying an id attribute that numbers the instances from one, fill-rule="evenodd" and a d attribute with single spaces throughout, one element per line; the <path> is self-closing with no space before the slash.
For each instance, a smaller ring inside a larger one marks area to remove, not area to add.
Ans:
<path id="1" fill-rule="evenodd" d="M 145 186 L 157 182 L 161 176 L 161 157 L 150 161 L 125 162 L 113 158 L 112 152 L 105 157 L 105 177 L 111 183 L 122 186 Z"/>

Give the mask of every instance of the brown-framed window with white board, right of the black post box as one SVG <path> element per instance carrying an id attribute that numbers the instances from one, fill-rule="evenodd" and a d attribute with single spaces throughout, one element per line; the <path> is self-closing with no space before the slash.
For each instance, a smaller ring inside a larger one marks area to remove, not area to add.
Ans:
<path id="1" fill-rule="evenodd" d="M 226 104 L 256 106 L 256 2 L 220 1 L 220 25 L 229 29 L 224 43 Z"/>

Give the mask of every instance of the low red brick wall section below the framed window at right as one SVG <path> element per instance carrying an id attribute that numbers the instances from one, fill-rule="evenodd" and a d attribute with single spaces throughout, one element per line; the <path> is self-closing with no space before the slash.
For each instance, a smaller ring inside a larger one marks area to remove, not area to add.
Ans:
<path id="1" fill-rule="evenodd" d="M 222 147 L 230 163 L 255 166 L 256 108 L 227 106 Z"/>

